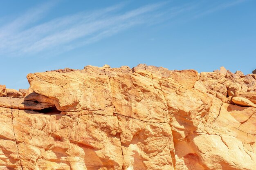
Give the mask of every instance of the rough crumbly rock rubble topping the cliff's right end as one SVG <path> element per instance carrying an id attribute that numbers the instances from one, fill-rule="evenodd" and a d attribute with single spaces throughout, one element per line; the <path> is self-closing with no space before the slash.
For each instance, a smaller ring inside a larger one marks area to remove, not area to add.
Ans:
<path id="1" fill-rule="evenodd" d="M 233 103 L 231 97 L 244 97 L 256 103 L 256 78 L 253 74 L 244 75 L 241 71 L 236 71 L 235 74 L 227 71 L 225 75 L 219 71 L 202 72 L 194 88 L 204 89 L 203 92 L 210 93 L 225 103 Z"/>

